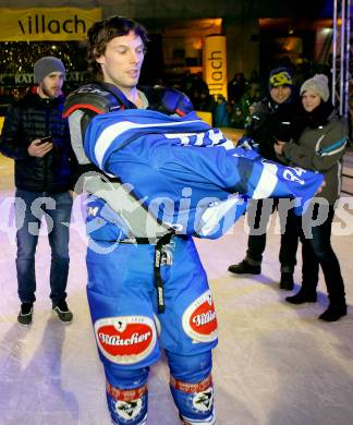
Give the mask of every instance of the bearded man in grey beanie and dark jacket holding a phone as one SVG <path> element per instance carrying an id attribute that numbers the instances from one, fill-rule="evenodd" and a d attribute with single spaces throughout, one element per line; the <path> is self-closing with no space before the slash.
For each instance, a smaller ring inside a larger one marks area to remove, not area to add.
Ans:
<path id="1" fill-rule="evenodd" d="M 44 57 L 34 65 L 38 86 L 10 106 L 0 151 L 15 160 L 17 320 L 29 325 L 35 302 L 35 252 L 42 216 L 51 246 L 50 299 L 63 323 L 72 320 L 66 299 L 69 222 L 72 208 L 72 150 L 69 125 L 62 118 L 65 68 L 60 59 Z"/>

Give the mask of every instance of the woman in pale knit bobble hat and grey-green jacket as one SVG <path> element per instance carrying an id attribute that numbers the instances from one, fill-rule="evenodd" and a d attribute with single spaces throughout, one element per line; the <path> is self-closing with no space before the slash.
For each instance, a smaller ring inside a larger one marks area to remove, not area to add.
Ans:
<path id="1" fill-rule="evenodd" d="M 303 104 L 303 126 L 297 144 L 275 144 L 275 150 L 293 167 L 302 167 L 325 174 L 326 186 L 314 198 L 306 220 L 295 218 L 300 230 L 303 257 L 303 281 L 300 291 L 285 300 L 292 304 L 316 302 L 316 288 L 321 266 L 329 296 L 328 308 L 319 316 L 321 320 L 336 321 L 346 314 L 344 283 L 339 260 L 331 246 L 331 224 L 334 203 L 340 195 L 341 161 L 344 155 L 348 132 L 345 123 L 339 119 L 330 102 L 328 78 L 316 74 L 301 87 Z M 324 207 L 324 208 L 322 208 Z M 321 224 L 316 224 L 307 233 L 307 218 L 317 220 L 327 215 Z"/>

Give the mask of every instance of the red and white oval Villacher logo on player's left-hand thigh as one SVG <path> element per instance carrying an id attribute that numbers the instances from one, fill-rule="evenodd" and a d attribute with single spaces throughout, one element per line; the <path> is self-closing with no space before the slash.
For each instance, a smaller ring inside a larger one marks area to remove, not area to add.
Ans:
<path id="1" fill-rule="evenodd" d="M 101 353 L 118 364 L 146 359 L 157 340 L 154 320 L 146 316 L 101 318 L 95 323 L 95 335 Z"/>

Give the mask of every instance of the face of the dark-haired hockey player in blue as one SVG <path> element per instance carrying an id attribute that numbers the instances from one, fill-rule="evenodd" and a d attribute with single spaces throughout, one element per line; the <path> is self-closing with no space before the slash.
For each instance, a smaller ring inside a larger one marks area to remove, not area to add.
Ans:
<path id="1" fill-rule="evenodd" d="M 97 58 L 97 62 L 101 65 L 106 83 L 130 89 L 138 83 L 144 56 L 145 47 L 141 37 L 130 32 L 125 36 L 111 39 L 105 53 Z"/>

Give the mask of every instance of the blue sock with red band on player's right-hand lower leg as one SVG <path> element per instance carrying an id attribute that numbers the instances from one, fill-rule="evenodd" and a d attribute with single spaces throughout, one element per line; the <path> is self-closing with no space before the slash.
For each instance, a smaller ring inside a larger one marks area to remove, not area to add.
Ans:
<path id="1" fill-rule="evenodd" d="M 211 353 L 194 356 L 168 354 L 170 389 L 185 425 L 216 423 Z"/>

